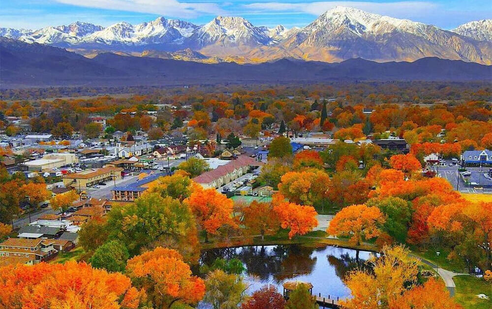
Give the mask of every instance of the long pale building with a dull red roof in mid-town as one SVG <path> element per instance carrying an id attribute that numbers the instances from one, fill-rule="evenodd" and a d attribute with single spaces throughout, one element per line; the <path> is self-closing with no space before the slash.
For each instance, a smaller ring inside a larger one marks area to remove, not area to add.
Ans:
<path id="1" fill-rule="evenodd" d="M 251 166 L 257 166 L 258 164 L 261 163 L 249 156 L 240 155 L 237 159 L 225 165 L 193 178 L 193 181 L 204 188 L 218 188 L 238 179 L 246 174 Z"/>

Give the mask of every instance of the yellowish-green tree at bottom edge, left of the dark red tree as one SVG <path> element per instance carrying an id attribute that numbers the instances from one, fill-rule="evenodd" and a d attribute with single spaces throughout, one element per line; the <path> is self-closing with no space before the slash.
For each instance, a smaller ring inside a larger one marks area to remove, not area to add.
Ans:
<path id="1" fill-rule="evenodd" d="M 246 291 L 246 284 L 241 277 L 222 270 L 210 272 L 205 279 L 205 286 L 204 301 L 212 304 L 214 309 L 237 309 Z"/>

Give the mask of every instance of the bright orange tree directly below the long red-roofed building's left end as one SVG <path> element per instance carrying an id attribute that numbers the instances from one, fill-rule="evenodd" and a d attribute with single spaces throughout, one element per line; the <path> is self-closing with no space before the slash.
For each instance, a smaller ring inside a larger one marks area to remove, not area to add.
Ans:
<path id="1" fill-rule="evenodd" d="M 237 227 L 232 217 L 233 201 L 214 188 L 197 187 L 185 202 L 205 231 L 206 242 L 209 234 L 216 235 L 219 228 L 223 226 Z"/>

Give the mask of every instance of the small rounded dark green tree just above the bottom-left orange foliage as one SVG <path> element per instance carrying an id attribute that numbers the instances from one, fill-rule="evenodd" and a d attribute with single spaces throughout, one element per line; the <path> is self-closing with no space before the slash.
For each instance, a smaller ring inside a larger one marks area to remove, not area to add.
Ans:
<path id="1" fill-rule="evenodd" d="M 103 268 L 108 272 L 123 272 L 129 256 L 123 243 L 113 240 L 98 247 L 89 262 L 94 268 Z"/>

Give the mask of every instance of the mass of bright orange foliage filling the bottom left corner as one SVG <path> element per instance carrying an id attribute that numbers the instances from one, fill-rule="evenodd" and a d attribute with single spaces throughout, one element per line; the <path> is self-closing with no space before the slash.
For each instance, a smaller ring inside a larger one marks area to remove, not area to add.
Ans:
<path id="1" fill-rule="evenodd" d="M 140 294 L 130 278 L 86 263 L 0 268 L 0 307 L 9 309 L 136 309 Z"/>

